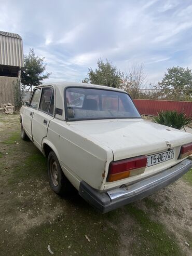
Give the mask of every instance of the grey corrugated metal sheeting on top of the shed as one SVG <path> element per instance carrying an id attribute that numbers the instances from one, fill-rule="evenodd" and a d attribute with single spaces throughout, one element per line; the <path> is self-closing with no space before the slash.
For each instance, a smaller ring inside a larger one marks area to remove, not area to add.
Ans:
<path id="1" fill-rule="evenodd" d="M 20 35 L 0 31 L 0 65 L 24 66 Z"/>

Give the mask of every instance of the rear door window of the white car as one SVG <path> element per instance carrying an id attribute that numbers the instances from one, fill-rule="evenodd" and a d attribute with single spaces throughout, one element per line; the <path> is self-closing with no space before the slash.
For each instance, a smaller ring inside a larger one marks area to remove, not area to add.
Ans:
<path id="1" fill-rule="evenodd" d="M 39 110 L 53 115 L 54 95 L 53 88 L 43 88 L 40 98 Z"/>

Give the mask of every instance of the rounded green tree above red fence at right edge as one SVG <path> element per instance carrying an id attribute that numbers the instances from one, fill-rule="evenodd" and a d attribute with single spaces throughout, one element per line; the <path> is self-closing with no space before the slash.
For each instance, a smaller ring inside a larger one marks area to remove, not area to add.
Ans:
<path id="1" fill-rule="evenodd" d="M 192 73 L 188 68 L 173 66 L 167 69 L 167 73 L 159 83 L 162 97 L 169 100 L 191 100 L 192 97 Z"/>

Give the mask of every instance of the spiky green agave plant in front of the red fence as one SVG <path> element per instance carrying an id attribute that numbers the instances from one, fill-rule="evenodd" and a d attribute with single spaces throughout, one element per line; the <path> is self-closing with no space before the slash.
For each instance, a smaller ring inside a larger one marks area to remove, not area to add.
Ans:
<path id="1" fill-rule="evenodd" d="M 160 111 L 158 115 L 154 117 L 153 122 L 181 130 L 185 125 L 192 124 L 192 119 L 187 117 L 185 113 L 167 110 Z"/>

